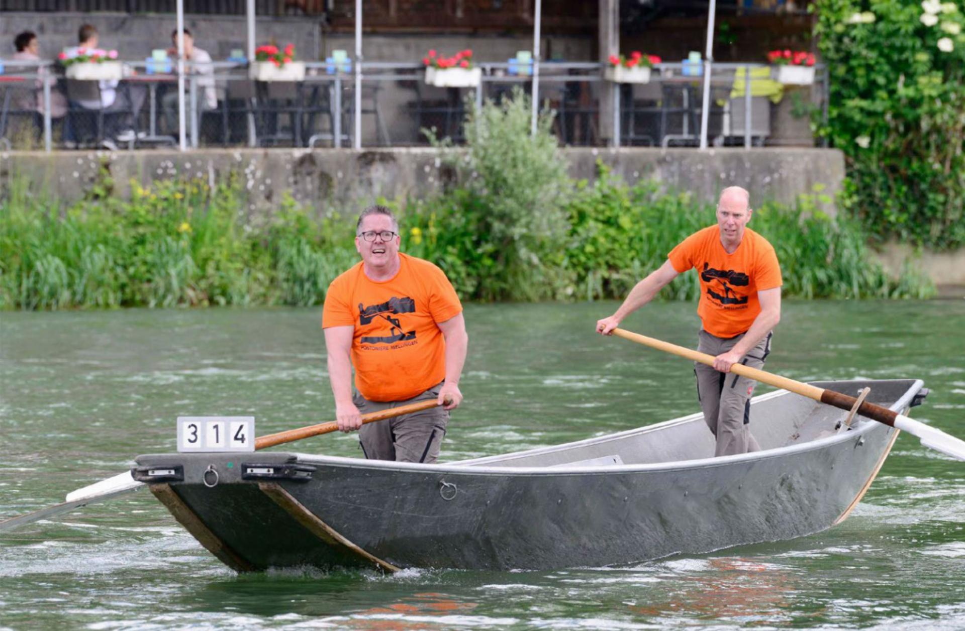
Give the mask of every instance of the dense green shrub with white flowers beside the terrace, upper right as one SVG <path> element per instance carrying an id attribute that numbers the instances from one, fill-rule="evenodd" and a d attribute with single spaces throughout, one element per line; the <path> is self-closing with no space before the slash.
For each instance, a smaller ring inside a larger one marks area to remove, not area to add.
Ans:
<path id="1" fill-rule="evenodd" d="M 818 0 L 842 203 L 871 233 L 965 244 L 965 16 L 960 2 Z M 857 12 L 874 21 L 849 22 Z M 928 17 L 931 15 L 933 17 Z M 940 46 L 951 50 L 943 50 Z"/>

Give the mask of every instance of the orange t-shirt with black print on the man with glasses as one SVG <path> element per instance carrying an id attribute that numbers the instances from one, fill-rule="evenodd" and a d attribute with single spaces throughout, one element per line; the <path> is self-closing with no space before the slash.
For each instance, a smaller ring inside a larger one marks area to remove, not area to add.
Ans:
<path id="1" fill-rule="evenodd" d="M 355 387 L 371 401 L 400 401 L 446 377 L 446 340 L 438 322 L 462 313 L 446 274 L 422 259 L 399 255 L 388 281 L 365 275 L 362 262 L 332 281 L 321 326 L 354 326 Z"/>

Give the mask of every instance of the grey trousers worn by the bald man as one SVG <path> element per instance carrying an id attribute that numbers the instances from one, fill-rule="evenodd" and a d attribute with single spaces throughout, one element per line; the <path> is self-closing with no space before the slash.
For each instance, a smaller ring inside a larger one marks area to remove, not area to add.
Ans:
<path id="1" fill-rule="evenodd" d="M 771 352 L 771 336 L 768 333 L 740 361 L 751 368 L 760 369 Z M 700 333 L 697 349 L 708 355 L 725 353 L 738 343 L 744 334 L 728 340 Z M 697 375 L 697 398 L 701 401 L 703 420 L 717 437 L 714 455 L 758 452 L 758 441 L 751 435 L 751 397 L 757 381 L 732 372 L 719 372 L 704 364 L 694 364 Z"/>

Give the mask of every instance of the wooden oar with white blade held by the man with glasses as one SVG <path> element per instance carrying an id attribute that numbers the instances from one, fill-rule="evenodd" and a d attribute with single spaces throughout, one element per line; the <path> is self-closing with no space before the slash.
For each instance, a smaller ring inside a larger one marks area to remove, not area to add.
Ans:
<path id="1" fill-rule="evenodd" d="M 448 404 L 449 401 L 450 399 L 447 398 L 446 404 Z M 386 419 L 392 419 L 397 416 L 402 416 L 403 414 L 421 412 L 431 407 L 435 407 L 438 404 L 439 403 L 432 398 L 425 401 L 418 401 L 416 403 L 400 405 L 399 407 L 390 407 L 387 410 L 363 414 L 362 423 L 366 424 L 375 423 L 376 421 L 385 421 Z M 255 440 L 255 449 L 263 450 L 268 447 L 283 445 L 285 443 L 301 440 L 303 438 L 311 438 L 312 436 L 331 433 L 338 430 L 338 428 L 339 425 L 334 421 L 331 421 L 329 423 L 308 425 L 305 427 L 299 427 L 297 429 L 289 429 L 288 431 L 280 431 L 275 434 L 268 434 L 267 436 L 262 436 Z M 241 455 L 241 453 L 238 455 Z M 61 513 L 69 512 L 74 508 L 86 507 L 89 504 L 97 504 L 98 502 L 103 502 L 104 500 L 109 500 L 117 497 L 118 495 L 124 495 L 124 493 L 137 490 L 144 485 L 144 482 L 134 480 L 131 478 L 130 472 L 125 471 L 123 474 L 118 474 L 113 478 L 100 480 L 99 482 L 95 482 L 89 486 L 71 491 L 67 494 L 67 502 L 64 502 L 63 504 L 55 504 L 52 507 L 41 508 L 40 510 L 35 510 L 34 512 L 28 512 L 25 515 L 18 515 L 6 521 L 0 521 L 0 533 L 13 531 L 14 529 L 25 524 L 30 524 L 41 519 L 47 519 Z"/>

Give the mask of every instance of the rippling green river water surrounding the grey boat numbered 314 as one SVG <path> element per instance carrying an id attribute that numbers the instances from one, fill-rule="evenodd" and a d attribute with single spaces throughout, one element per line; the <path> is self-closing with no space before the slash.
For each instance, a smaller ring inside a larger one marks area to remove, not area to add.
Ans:
<path id="1" fill-rule="evenodd" d="M 697 410 L 684 360 L 593 334 L 614 303 L 470 305 L 465 402 L 443 459 Z M 695 306 L 625 328 L 696 345 Z M 0 519 L 175 449 L 179 415 L 264 434 L 333 418 L 319 309 L 0 314 Z M 767 368 L 917 377 L 912 416 L 965 437 L 965 302 L 789 302 Z M 758 388 L 760 393 L 765 387 Z M 352 436 L 301 452 L 361 456 Z M 851 517 L 792 541 L 560 571 L 238 576 L 149 493 L 0 535 L 0 629 L 965 628 L 965 462 L 898 438 Z"/>

